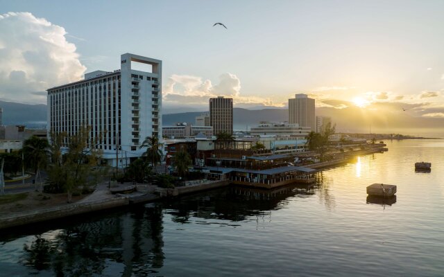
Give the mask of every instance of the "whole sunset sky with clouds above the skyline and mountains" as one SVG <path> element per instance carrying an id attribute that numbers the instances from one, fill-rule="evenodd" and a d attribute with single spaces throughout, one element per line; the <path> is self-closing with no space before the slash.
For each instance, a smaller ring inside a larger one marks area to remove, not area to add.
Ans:
<path id="1" fill-rule="evenodd" d="M 0 100 L 46 103 L 49 87 L 135 53 L 162 60 L 170 112 L 203 111 L 219 95 L 286 107 L 307 93 L 316 107 L 444 118 L 443 10 L 407 0 L 0 0 Z"/>

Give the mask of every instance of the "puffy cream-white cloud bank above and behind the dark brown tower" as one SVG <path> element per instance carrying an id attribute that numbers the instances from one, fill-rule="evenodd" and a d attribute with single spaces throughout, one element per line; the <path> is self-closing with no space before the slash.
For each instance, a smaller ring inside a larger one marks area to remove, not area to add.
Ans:
<path id="1" fill-rule="evenodd" d="M 208 105 L 210 98 L 224 96 L 233 98 L 235 105 L 273 106 L 269 98 L 241 96 L 241 81 L 237 75 L 223 73 L 218 84 L 193 75 L 171 75 L 163 87 L 163 101 L 167 105 Z"/>

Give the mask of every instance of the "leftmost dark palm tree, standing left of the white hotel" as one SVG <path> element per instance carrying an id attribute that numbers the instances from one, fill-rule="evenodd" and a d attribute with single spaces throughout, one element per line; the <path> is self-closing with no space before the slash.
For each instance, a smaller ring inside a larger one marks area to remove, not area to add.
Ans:
<path id="1" fill-rule="evenodd" d="M 31 136 L 24 142 L 24 156 L 29 166 L 35 170 L 35 186 L 40 179 L 39 192 L 42 193 L 42 178 L 40 177 L 40 168 L 46 166 L 49 156 L 49 143 L 46 139 L 39 139 L 37 136 Z"/>

